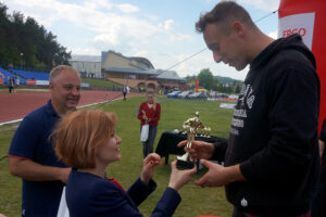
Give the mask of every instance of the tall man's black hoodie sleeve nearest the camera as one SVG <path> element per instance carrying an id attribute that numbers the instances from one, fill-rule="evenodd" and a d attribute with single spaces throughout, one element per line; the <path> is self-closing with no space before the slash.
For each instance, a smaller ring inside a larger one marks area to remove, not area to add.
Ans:
<path id="1" fill-rule="evenodd" d="M 287 65 L 267 85 L 271 139 L 263 150 L 240 164 L 252 181 L 290 181 L 303 177 L 315 156 L 319 81 L 309 64 Z"/>

